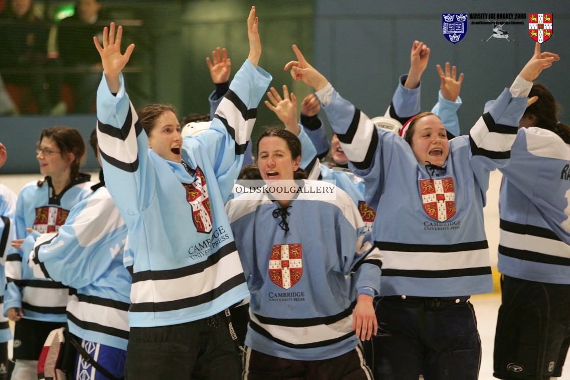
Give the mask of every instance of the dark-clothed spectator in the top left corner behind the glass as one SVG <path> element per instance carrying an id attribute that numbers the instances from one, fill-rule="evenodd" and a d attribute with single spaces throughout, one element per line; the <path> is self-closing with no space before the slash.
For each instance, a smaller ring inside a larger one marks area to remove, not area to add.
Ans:
<path id="1" fill-rule="evenodd" d="M 39 113 L 61 113 L 50 100 L 43 70 L 49 31 L 50 26 L 34 15 L 32 0 L 9 1 L 0 14 L 0 72 L 6 84 L 30 87 Z M 54 97 L 59 97 L 57 87 L 52 88 Z"/>

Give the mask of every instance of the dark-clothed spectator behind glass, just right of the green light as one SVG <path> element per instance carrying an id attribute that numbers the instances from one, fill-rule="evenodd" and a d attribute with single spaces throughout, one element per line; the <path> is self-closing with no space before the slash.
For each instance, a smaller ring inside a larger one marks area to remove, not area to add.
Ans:
<path id="1" fill-rule="evenodd" d="M 97 26 L 101 5 L 100 0 L 78 0 L 75 14 L 64 18 L 58 26 L 59 58 L 64 68 L 71 71 L 64 75 L 63 83 L 73 92 L 74 113 L 93 113 L 102 67 L 92 41 L 93 36 L 102 38 L 102 29 Z"/>

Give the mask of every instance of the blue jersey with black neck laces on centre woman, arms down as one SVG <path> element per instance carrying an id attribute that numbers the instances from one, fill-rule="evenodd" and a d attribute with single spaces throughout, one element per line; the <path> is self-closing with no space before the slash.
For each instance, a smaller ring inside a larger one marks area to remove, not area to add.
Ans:
<path id="1" fill-rule="evenodd" d="M 288 232 L 279 226 L 282 216 L 274 216 L 279 204 L 267 194 L 226 205 L 251 293 L 246 345 L 254 350 L 319 360 L 358 344 L 352 331 L 356 289 L 378 291 L 380 252 L 366 250 L 369 236 L 344 191 L 336 189 L 335 201 L 321 195 L 298 194 L 291 201 Z"/>

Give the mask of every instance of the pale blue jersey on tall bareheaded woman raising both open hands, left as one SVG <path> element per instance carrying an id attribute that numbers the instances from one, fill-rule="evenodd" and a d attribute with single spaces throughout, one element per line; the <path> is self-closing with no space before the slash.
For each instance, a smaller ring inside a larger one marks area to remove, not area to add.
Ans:
<path id="1" fill-rule="evenodd" d="M 243 64 L 210 129 L 184 138 L 188 171 L 148 149 L 123 77 L 116 96 L 101 81 L 97 140 L 107 189 L 129 228 L 131 327 L 199 320 L 247 297 L 224 201 L 270 81 L 261 68 Z"/>

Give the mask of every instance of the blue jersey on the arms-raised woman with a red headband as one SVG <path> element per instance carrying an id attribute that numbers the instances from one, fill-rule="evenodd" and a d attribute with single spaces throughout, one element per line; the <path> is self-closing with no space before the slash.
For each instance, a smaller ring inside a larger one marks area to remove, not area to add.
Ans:
<path id="1" fill-rule="evenodd" d="M 372 234 L 384 255 L 380 294 L 453 297 L 491 292 L 483 226 L 488 176 L 508 164 L 514 127 L 527 99 L 512 97 L 506 89 L 470 136 L 449 142 L 449 157 L 438 170 L 418 164 L 404 139 L 375 128 L 334 89 L 325 88 L 317 96 L 329 99 L 325 112 L 351 160 L 349 167 L 364 178 L 368 205 L 377 210 Z"/>

